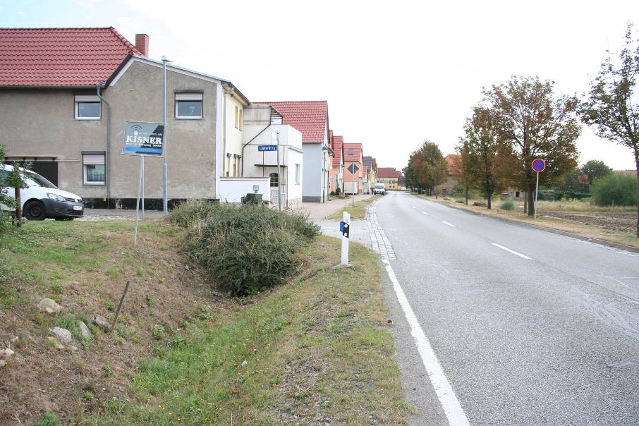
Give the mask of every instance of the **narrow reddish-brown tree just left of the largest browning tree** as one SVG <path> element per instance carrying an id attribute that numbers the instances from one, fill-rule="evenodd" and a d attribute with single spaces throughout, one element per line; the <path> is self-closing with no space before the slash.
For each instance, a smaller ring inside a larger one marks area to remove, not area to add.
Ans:
<path id="1" fill-rule="evenodd" d="M 499 140 L 497 117 L 493 111 L 475 107 L 473 116 L 464 127 L 462 142 L 470 181 L 486 195 L 487 207 L 492 208 L 492 195 L 504 188 L 502 171 L 509 164 L 509 155 Z"/>

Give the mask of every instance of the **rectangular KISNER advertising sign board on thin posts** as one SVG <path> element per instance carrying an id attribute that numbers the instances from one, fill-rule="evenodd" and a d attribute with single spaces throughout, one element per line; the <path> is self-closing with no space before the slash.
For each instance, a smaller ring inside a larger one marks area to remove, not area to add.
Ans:
<path id="1" fill-rule="evenodd" d="M 165 128 L 164 123 L 125 121 L 122 154 L 162 157 Z"/>

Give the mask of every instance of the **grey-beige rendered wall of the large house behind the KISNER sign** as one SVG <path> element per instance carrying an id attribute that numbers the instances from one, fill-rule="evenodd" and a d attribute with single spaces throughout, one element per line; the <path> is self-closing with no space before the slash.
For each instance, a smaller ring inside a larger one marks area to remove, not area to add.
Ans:
<path id="1" fill-rule="evenodd" d="M 203 90 L 202 119 L 178 120 L 174 90 Z M 217 198 L 219 82 L 167 71 L 169 200 Z M 56 156 L 59 187 L 102 200 L 106 185 L 84 185 L 82 151 L 105 151 L 107 107 L 100 120 L 75 120 L 72 90 L 0 90 L 0 130 L 9 155 Z M 95 90 L 83 94 L 95 95 Z M 102 96 L 111 104 L 111 199 L 138 193 L 140 157 L 121 155 L 124 121 L 162 121 L 162 65 L 133 60 Z M 145 158 L 145 197 L 162 206 L 162 158 Z M 152 205 L 157 207 L 157 205 Z"/>

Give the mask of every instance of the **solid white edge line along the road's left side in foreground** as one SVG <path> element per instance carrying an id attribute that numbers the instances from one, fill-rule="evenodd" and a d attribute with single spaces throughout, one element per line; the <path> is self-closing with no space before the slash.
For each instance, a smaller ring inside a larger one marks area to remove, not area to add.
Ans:
<path id="1" fill-rule="evenodd" d="M 415 317 L 415 312 L 413 312 L 413 308 L 410 308 L 410 303 L 408 303 L 408 299 L 399 285 L 399 281 L 397 281 L 397 276 L 395 276 L 395 272 L 393 271 L 390 262 L 388 260 L 382 260 L 382 262 L 387 265 L 385 269 L 393 283 L 397 300 L 404 311 L 408 324 L 410 325 L 410 335 L 413 336 L 413 339 L 415 339 L 415 346 L 417 346 L 418 352 L 422 358 L 422 363 L 424 364 L 428 377 L 430 378 L 430 383 L 432 384 L 435 394 L 437 394 L 439 403 L 442 404 L 442 409 L 446 414 L 449 424 L 451 426 L 470 425 L 470 422 L 468 422 L 468 418 L 466 418 L 466 415 L 461 408 L 461 404 L 455 395 L 455 391 L 444 374 L 442 365 L 439 364 L 439 360 L 437 360 L 437 355 L 435 355 L 432 350 L 432 346 L 430 346 L 430 341 L 426 337 L 426 334 L 424 334 L 422 327 L 420 327 L 417 317 Z"/>

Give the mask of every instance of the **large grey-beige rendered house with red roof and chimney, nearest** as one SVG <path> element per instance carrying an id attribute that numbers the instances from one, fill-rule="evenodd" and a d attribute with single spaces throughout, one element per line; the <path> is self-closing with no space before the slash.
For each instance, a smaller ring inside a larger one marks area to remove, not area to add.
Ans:
<path id="1" fill-rule="evenodd" d="M 163 121 L 166 66 L 168 198 L 219 199 L 220 178 L 232 170 L 219 161 L 221 142 L 234 137 L 224 104 L 248 99 L 229 80 L 148 58 L 149 37 L 135 38 L 131 44 L 112 27 L 0 29 L 8 158 L 33 162 L 88 206 L 134 207 L 140 159 L 121 154 L 123 128 Z M 147 208 L 162 208 L 162 162 L 145 159 Z"/>

